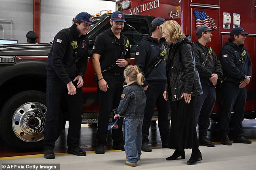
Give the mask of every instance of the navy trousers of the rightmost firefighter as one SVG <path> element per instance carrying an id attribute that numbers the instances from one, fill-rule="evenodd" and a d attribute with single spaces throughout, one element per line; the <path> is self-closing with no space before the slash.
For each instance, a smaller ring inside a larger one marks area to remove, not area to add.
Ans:
<path id="1" fill-rule="evenodd" d="M 242 121 L 246 107 L 246 87 L 239 88 L 238 84 L 223 84 L 221 87 L 221 113 L 220 113 L 220 134 L 229 134 L 229 122 L 231 110 L 234 110 L 233 123 L 235 136 L 243 136 Z"/>

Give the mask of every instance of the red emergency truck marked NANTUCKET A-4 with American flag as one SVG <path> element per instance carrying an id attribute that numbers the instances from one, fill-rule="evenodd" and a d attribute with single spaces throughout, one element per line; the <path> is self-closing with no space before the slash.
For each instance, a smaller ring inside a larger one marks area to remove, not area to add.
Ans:
<path id="1" fill-rule="evenodd" d="M 116 0 L 116 10 L 125 14 L 144 14 L 176 20 L 186 35 L 197 41 L 196 29 L 208 25 L 212 31 L 212 47 L 218 54 L 228 40 L 230 31 L 242 27 L 246 32 L 245 47 L 252 59 L 252 81 L 247 86 L 246 118 L 256 117 L 256 1 L 255 0 Z M 213 113 L 220 112 L 220 95 Z M 216 114 L 212 114 L 218 119 Z"/>

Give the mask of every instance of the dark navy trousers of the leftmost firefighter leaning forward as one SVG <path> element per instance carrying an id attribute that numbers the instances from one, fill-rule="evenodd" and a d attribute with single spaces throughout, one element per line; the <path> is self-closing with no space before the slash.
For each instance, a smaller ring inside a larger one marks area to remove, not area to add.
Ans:
<path id="1" fill-rule="evenodd" d="M 72 79 L 71 79 L 72 80 Z M 73 82 L 77 88 L 77 82 Z M 46 87 L 46 122 L 44 126 L 44 150 L 53 149 L 55 141 L 59 137 L 59 129 L 63 121 L 60 112 L 61 96 L 67 99 L 69 113 L 69 130 L 67 134 L 67 147 L 73 149 L 78 146 L 83 112 L 82 88 L 76 89 L 75 95 L 69 95 L 67 85 L 59 78 L 47 79 Z"/>

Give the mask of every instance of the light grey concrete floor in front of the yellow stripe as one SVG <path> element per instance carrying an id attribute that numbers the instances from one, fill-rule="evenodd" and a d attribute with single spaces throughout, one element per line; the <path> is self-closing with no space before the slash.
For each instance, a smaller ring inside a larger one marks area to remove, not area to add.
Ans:
<path id="1" fill-rule="evenodd" d="M 191 150 L 185 150 L 185 160 L 166 161 L 165 158 L 173 150 L 154 147 L 152 152 L 143 152 L 136 169 L 141 170 L 255 170 L 256 141 L 252 144 L 233 143 L 232 146 L 217 143 L 215 147 L 200 146 L 203 160 L 195 165 L 187 165 Z M 1 164 L 60 164 L 60 170 L 126 170 L 131 167 L 124 165 L 125 152 L 108 150 L 103 155 L 94 151 L 80 157 L 69 154 L 57 154 L 54 160 L 46 160 L 43 154 L 32 155 L 30 158 L 0 159 Z"/>

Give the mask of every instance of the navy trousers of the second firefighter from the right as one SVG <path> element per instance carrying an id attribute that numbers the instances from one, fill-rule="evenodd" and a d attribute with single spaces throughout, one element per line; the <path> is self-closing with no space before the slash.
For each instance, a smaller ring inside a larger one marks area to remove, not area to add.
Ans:
<path id="1" fill-rule="evenodd" d="M 199 119 L 199 138 L 207 137 L 210 126 L 210 115 L 216 101 L 216 90 L 214 86 L 202 84 L 203 93 L 195 97 L 195 123 Z"/>

